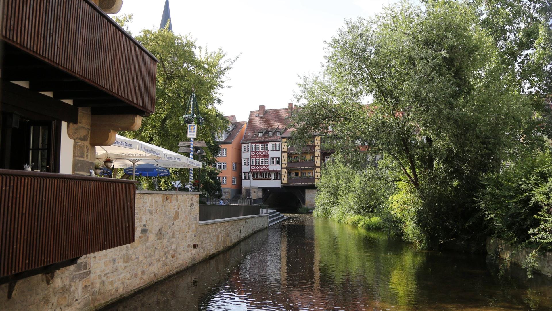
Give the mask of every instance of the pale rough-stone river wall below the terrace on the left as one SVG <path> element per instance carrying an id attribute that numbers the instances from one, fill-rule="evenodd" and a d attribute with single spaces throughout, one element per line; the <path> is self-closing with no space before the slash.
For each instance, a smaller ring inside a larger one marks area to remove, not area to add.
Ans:
<path id="1" fill-rule="evenodd" d="M 22 279 L 12 299 L 2 284 L 0 310 L 97 309 L 268 226 L 267 217 L 199 225 L 198 194 L 146 192 L 136 194 L 134 243 L 83 256 L 51 279 Z"/>

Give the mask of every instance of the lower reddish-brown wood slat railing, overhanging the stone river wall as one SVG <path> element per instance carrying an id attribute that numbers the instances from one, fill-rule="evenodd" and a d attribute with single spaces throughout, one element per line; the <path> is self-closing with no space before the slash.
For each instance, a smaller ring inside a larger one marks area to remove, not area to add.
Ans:
<path id="1" fill-rule="evenodd" d="M 0 277 L 134 242 L 132 180 L 0 169 Z"/>

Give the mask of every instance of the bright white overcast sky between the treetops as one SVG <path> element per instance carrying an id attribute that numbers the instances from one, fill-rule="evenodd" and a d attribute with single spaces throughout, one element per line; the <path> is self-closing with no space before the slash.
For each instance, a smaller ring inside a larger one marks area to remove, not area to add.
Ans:
<path id="1" fill-rule="evenodd" d="M 393 2 L 393 1 L 391 1 Z M 117 14 L 132 13 L 129 30 L 158 28 L 165 0 L 125 0 Z M 183 1 L 169 0 L 173 32 L 191 35 L 208 50 L 221 48 L 240 56 L 220 90 L 225 116 L 247 121 L 250 110 L 286 108 L 304 74 L 316 74 L 326 53 L 324 43 L 344 19 L 368 17 L 389 0 Z"/>

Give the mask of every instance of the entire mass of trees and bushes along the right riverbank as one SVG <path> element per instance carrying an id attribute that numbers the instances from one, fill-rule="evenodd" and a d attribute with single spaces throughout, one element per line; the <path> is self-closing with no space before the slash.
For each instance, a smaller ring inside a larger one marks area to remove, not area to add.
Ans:
<path id="1" fill-rule="evenodd" d="M 293 144 L 338 152 L 318 216 L 421 248 L 550 245 L 549 2 L 402 2 L 347 20 L 305 76 Z"/>

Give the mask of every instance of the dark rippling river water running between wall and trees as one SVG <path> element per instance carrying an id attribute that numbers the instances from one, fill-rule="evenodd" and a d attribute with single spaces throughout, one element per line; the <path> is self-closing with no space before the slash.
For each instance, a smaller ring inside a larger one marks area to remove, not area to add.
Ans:
<path id="1" fill-rule="evenodd" d="M 552 280 L 290 218 L 106 310 L 552 310 Z"/>

